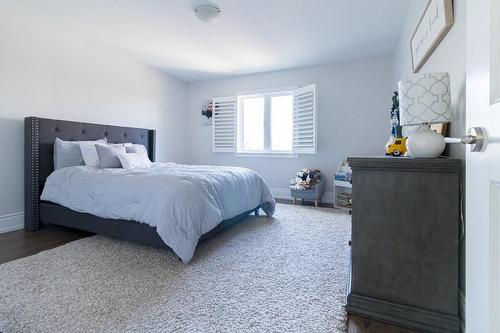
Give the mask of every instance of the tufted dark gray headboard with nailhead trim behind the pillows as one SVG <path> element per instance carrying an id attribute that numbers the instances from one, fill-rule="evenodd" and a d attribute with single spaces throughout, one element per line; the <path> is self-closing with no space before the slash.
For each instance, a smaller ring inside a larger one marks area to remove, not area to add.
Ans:
<path id="1" fill-rule="evenodd" d="M 99 125 L 26 117 L 25 138 L 25 227 L 37 230 L 40 194 L 47 177 L 54 171 L 54 141 L 97 140 L 103 137 L 112 143 L 138 143 L 146 146 L 151 161 L 155 160 L 155 130 Z"/>

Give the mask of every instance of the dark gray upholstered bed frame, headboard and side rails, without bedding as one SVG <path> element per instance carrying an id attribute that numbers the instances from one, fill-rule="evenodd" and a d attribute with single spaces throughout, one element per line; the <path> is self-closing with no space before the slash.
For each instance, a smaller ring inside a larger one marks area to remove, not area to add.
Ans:
<path id="1" fill-rule="evenodd" d="M 141 244 L 167 247 L 156 228 L 135 221 L 106 219 L 76 212 L 69 208 L 40 200 L 45 180 L 54 171 L 54 140 L 97 140 L 106 137 L 109 142 L 131 142 L 146 146 L 149 158 L 155 161 L 155 130 L 80 123 L 75 121 L 26 117 L 25 130 L 25 220 L 24 228 L 36 231 L 43 224 L 57 224 L 86 230 L 110 237 L 135 241 Z M 206 239 L 244 220 L 252 212 L 258 215 L 259 207 L 244 212 L 202 236 Z"/>

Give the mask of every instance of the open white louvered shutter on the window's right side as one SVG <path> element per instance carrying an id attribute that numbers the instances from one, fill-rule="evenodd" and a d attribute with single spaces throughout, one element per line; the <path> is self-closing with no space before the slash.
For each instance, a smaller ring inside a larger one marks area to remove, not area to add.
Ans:
<path id="1" fill-rule="evenodd" d="M 316 153 L 316 85 L 293 92 L 293 152 Z"/>

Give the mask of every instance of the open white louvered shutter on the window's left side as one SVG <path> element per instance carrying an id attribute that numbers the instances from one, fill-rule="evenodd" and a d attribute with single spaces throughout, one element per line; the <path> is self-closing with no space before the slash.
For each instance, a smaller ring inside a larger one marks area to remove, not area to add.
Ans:
<path id="1" fill-rule="evenodd" d="M 234 96 L 212 99 L 212 151 L 234 152 L 236 129 L 236 99 Z"/>

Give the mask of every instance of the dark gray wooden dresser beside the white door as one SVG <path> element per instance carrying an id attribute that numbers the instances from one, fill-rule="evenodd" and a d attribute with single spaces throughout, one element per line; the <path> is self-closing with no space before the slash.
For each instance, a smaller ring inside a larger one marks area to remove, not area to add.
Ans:
<path id="1" fill-rule="evenodd" d="M 422 332 L 459 332 L 462 161 L 348 161 L 353 207 L 347 312 Z"/>

